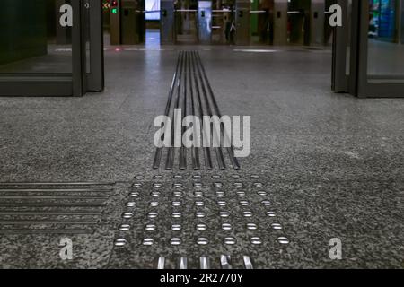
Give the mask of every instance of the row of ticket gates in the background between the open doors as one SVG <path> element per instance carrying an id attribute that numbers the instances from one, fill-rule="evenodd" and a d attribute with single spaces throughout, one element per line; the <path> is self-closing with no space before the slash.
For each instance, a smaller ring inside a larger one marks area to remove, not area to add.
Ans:
<path id="1" fill-rule="evenodd" d="M 329 45 L 330 0 L 104 0 L 111 45 Z M 148 37 L 150 36 L 150 37 Z M 146 43 L 147 44 L 147 43 Z"/>

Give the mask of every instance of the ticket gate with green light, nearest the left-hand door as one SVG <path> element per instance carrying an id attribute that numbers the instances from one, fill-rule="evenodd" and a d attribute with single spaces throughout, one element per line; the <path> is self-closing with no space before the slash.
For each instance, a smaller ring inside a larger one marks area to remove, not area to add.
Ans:
<path id="1" fill-rule="evenodd" d="M 110 4 L 110 44 L 145 42 L 145 1 L 113 0 Z"/>

